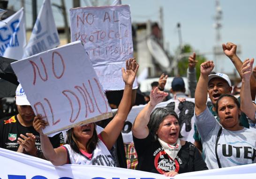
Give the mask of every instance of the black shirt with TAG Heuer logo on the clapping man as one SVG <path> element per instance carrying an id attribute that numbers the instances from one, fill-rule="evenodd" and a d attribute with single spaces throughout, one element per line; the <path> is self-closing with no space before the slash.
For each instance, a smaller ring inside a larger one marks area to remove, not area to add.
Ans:
<path id="1" fill-rule="evenodd" d="M 36 147 L 41 151 L 40 135 L 31 127 L 24 127 L 17 119 L 17 115 L 0 119 L 0 148 L 17 151 L 19 144 L 17 143 L 20 134 L 26 135 L 32 133 L 36 136 Z M 64 144 L 64 137 L 62 133 L 49 137 L 53 148 L 60 147 Z"/>

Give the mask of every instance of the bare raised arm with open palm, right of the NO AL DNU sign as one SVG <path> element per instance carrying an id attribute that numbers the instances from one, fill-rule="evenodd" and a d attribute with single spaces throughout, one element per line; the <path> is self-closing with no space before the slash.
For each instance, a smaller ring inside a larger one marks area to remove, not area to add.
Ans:
<path id="1" fill-rule="evenodd" d="M 116 142 L 120 132 L 123 129 L 124 122 L 127 119 L 132 103 L 132 86 L 135 80 L 139 65 L 135 59 L 126 61 L 126 70 L 122 68 L 122 77 L 125 83 L 123 97 L 118 106 L 118 110 L 114 118 L 108 123 L 101 132 L 101 136 L 107 149 L 111 149 Z"/>

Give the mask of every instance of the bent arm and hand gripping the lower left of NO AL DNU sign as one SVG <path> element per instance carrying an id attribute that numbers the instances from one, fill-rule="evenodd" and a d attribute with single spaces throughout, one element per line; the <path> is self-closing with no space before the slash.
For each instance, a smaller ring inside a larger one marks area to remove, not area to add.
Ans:
<path id="1" fill-rule="evenodd" d="M 42 129 L 47 126 L 47 122 L 42 119 L 41 115 L 35 117 L 33 127 L 40 134 L 41 150 L 47 160 L 52 162 L 53 165 L 59 166 L 67 163 L 68 154 L 62 147 L 53 149 L 53 145 L 49 138 L 43 134 Z"/>

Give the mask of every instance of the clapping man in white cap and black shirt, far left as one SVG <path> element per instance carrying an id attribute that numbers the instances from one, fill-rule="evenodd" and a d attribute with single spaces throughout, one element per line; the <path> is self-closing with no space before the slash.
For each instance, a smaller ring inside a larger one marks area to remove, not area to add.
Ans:
<path id="1" fill-rule="evenodd" d="M 0 148 L 44 158 L 41 153 L 39 133 L 33 127 L 35 113 L 21 84 L 17 87 L 15 98 L 18 114 L 11 118 L 0 119 Z M 61 133 L 50 138 L 50 141 L 54 148 L 64 144 Z"/>

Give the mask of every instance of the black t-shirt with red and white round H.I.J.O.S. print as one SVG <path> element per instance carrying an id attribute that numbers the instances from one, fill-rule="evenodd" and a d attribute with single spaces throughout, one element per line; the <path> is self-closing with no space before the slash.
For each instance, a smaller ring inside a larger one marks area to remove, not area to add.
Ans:
<path id="1" fill-rule="evenodd" d="M 160 174 L 170 171 L 186 173 L 208 170 L 202 155 L 195 148 L 192 171 L 188 171 L 189 145 L 192 144 L 191 142 L 186 142 L 185 145 L 181 146 L 174 161 L 166 154 L 160 143 L 153 140 L 151 133 L 145 139 L 137 139 L 133 136 L 133 142 L 138 155 L 138 170 Z"/>

